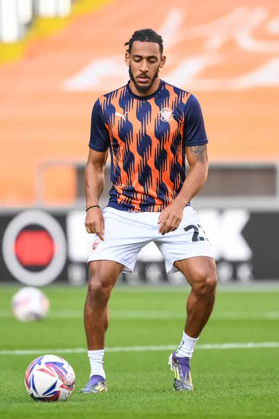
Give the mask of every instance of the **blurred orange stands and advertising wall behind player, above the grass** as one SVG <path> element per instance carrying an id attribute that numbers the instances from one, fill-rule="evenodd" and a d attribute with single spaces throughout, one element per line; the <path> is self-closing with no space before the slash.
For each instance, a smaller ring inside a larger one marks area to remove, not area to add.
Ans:
<path id="1" fill-rule="evenodd" d="M 210 170 L 193 205 L 201 210 L 220 281 L 278 278 L 275 1 L 160 1 L 154 3 L 156 13 L 146 13 L 149 1 L 1 3 L 0 230 L 4 239 L 8 234 L 10 248 L 3 249 L 3 240 L 0 281 L 38 286 L 47 277 L 49 282 L 86 281 L 91 238 L 83 227 L 83 170 L 90 112 L 98 95 L 125 84 L 123 43 L 141 27 L 153 27 L 164 38 L 167 66 L 162 77 L 192 91 L 202 104 Z M 110 189 L 109 172 L 110 163 L 102 205 Z M 10 223 L 23 210 L 27 219 L 30 210 L 40 214 L 33 214 L 31 224 L 22 215 L 23 225 L 10 237 Z M 36 223 L 44 214 L 56 220 L 55 231 L 63 230 L 66 253 L 54 243 L 53 232 Z M 47 276 L 54 248 L 61 253 L 60 263 Z M 142 251 L 137 269 L 123 281 L 183 282 L 165 277 L 160 253 L 152 245 Z M 30 271 L 41 275 L 36 279 Z"/>

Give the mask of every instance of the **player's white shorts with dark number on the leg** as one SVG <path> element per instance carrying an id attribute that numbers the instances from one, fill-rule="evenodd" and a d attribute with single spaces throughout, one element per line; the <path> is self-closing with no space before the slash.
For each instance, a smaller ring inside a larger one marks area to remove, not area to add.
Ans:
<path id="1" fill-rule="evenodd" d="M 89 262 L 114 260 L 124 265 L 124 273 L 131 273 L 138 253 L 150 242 L 154 242 L 163 254 L 168 274 L 177 271 L 174 267 L 176 260 L 193 256 L 213 258 L 211 245 L 193 207 L 184 208 L 179 228 L 165 235 L 158 233 L 160 212 L 128 212 L 106 207 L 103 215 L 105 240 L 102 242 L 96 234 L 93 235 Z"/>

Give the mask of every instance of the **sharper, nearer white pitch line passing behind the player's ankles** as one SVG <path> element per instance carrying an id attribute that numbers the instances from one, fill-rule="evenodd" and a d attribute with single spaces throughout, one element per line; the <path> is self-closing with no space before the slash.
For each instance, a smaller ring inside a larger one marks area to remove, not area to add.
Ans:
<path id="1" fill-rule="evenodd" d="M 177 345 L 162 346 L 116 346 L 106 348 L 107 352 L 149 352 L 149 351 L 174 351 Z M 255 349 L 255 348 L 279 348 L 279 342 L 247 342 L 228 344 L 204 344 L 197 345 L 196 350 L 202 349 Z M 42 353 L 87 353 L 86 348 L 64 348 L 64 349 L 27 349 L 17 351 L 0 351 L 0 355 L 36 355 Z"/>

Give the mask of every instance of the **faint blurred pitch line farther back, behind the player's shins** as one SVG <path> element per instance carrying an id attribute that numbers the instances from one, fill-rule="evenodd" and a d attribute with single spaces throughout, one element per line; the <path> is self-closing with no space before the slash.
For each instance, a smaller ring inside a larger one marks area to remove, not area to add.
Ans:
<path id="1" fill-rule="evenodd" d="M 153 318 L 154 320 L 165 319 L 181 319 L 186 316 L 184 311 L 110 311 L 110 318 L 112 320 L 127 320 L 127 319 L 146 319 Z M 13 313 L 10 310 L 0 310 L 0 318 L 12 318 Z M 83 312 L 80 310 L 51 310 L 48 318 L 80 318 L 83 317 Z M 216 311 L 213 312 L 211 320 L 278 320 L 279 311 Z"/>

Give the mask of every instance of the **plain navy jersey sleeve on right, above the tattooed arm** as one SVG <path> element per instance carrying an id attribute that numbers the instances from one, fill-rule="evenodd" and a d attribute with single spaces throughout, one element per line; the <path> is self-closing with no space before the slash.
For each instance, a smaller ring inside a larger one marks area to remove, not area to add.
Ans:
<path id="1" fill-rule="evenodd" d="M 183 143 L 186 147 L 209 142 L 204 128 L 204 117 L 199 101 L 193 94 L 188 98 L 184 110 Z"/>

